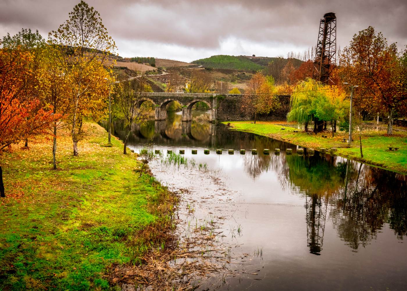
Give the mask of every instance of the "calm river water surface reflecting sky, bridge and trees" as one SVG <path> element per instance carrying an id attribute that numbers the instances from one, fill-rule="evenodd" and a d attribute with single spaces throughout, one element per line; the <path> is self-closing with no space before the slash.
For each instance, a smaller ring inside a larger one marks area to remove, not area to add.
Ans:
<path id="1" fill-rule="evenodd" d="M 171 189 L 191 191 L 195 215 L 218 221 L 223 243 L 243 258 L 229 266 L 235 276 L 213 276 L 198 290 L 407 290 L 405 175 L 319 152 L 300 156 L 292 144 L 222 124 L 182 123 L 178 113 L 133 126 L 129 147 L 147 145 L 184 149 L 212 169 L 151 165 Z"/>

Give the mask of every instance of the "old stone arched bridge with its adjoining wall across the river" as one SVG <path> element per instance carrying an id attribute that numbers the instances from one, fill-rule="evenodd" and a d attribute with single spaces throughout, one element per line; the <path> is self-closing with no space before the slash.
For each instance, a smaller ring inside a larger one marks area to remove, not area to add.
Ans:
<path id="1" fill-rule="evenodd" d="M 204 102 L 210 108 L 210 121 L 250 120 L 253 117 L 241 112 L 243 94 L 210 94 L 210 93 L 158 93 L 144 92 L 139 101 L 151 101 L 155 106 L 155 120 L 165 120 L 166 106 L 177 101 L 182 106 L 182 121 L 192 120 L 192 106 Z M 289 110 L 289 95 L 279 95 L 282 108 L 271 115 L 271 119 L 285 120 Z"/>

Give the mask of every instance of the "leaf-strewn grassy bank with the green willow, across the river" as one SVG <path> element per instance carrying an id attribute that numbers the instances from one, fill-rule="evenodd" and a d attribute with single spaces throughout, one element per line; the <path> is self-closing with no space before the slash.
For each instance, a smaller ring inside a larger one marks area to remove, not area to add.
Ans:
<path id="1" fill-rule="evenodd" d="M 287 141 L 306 148 L 337 148 L 336 154 L 342 157 L 363 161 L 390 170 L 407 173 L 407 132 L 398 131 L 392 136 L 387 136 L 384 130 L 364 130 L 362 133 L 363 159 L 360 154 L 359 132 L 353 135 L 352 146 L 342 140 L 347 138 L 346 132 L 337 132 L 335 137 L 326 131 L 317 135 L 308 135 L 306 132 L 294 132 L 293 127 L 281 126 L 276 122 L 257 121 L 229 121 L 233 130 L 253 132 L 255 134 L 271 137 L 281 141 Z M 281 130 L 285 128 L 285 130 Z M 327 135 L 323 138 L 322 134 Z M 398 147 L 397 151 L 390 151 L 389 146 Z"/>

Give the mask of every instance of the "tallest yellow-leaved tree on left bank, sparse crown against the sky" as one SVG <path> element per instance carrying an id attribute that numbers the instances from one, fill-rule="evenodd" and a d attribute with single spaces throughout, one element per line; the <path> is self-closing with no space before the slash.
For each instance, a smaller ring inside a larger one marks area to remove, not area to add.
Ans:
<path id="1" fill-rule="evenodd" d="M 108 94 L 109 77 L 103 65 L 109 65 L 109 55 L 116 44 L 107 33 L 100 14 L 81 1 L 69 13 L 69 19 L 57 31 L 48 34 L 50 44 L 61 51 L 60 64 L 70 82 L 70 124 L 74 156 L 77 143 L 83 137 L 83 118 L 101 118 Z"/>

